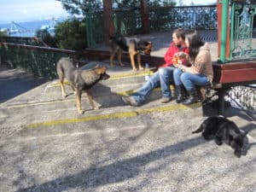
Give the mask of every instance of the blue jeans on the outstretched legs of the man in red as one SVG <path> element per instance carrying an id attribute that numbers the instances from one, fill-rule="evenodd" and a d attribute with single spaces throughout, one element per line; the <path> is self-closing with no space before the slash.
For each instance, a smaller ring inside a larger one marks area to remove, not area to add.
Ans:
<path id="1" fill-rule="evenodd" d="M 174 67 L 161 67 L 158 69 L 148 81 L 143 84 L 143 87 L 131 96 L 138 104 L 142 104 L 150 95 L 154 88 L 160 85 L 162 95 L 166 98 L 172 98 L 172 92 L 170 89 L 170 81 L 172 80 L 172 72 Z"/>

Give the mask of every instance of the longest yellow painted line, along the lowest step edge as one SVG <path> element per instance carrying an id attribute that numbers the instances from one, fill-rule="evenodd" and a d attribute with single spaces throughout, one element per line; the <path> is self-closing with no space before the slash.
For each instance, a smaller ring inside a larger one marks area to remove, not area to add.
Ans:
<path id="1" fill-rule="evenodd" d="M 122 118 L 135 117 L 143 113 L 160 113 L 160 112 L 183 110 L 188 108 L 199 108 L 199 107 L 201 107 L 201 102 L 198 102 L 189 106 L 185 106 L 182 104 L 175 104 L 175 105 L 165 106 L 165 107 L 145 108 L 145 109 L 138 109 L 134 111 L 121 112 L 121 113 L 109 113 L 109 114 L 87 116 L 84 118 L 50 120 L 50 121 L 45 121 L 41 123 L 26 125 L 26 127 L 37 128 L 40 126 L 64 125 L 64 124 L 70 124 L 70 123 L 88 122 L 88 121 L 96 121 L 96 120 L 102 120 L 102 119 L 122 119 Z"/>

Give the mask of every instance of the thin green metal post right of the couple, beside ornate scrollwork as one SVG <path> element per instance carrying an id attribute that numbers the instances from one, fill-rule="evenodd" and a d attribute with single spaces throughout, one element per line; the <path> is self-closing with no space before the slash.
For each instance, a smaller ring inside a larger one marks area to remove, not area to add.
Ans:
<path id="1" fill-rule="evenodd" d="M 221 38 L 220 38 L 220 61 L 225 62 L 226 55 L 226 40 L 227 40 L 227 30 L 228 30 L 228 10 L 229 10 L 229 0 L 219 1 L 222 3 L 222 13 L 221 13 Z"/>

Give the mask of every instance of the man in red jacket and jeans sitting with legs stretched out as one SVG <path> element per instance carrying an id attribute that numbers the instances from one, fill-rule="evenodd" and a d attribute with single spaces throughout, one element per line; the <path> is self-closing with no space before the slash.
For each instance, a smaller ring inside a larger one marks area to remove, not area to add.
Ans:
<path id="1" fill-rule="evenodd" d="M 172 92 L 170 90 L 170 81 L 172 78 L 172 73 L 174 67 L 172 65 L 173 55 L 177 52 L 188 53 L 188 48 L 185 46 L 185 32 L 183 29 L 178 28 L 172 32 L 172 44 L 166 51 L 165 61 L 166 63 L 159 67 L 158 71 L 148 79 L 148 81 L 143 84 L 143 86 L 131 96 L 122 96 L 122 100 L 125 104 L 131 106 L 139 106 L 150 95 L 154 88 L 160 85 L 162 91 L 162 99 L 160 102 L 166 103 L 172 101 Z"/>

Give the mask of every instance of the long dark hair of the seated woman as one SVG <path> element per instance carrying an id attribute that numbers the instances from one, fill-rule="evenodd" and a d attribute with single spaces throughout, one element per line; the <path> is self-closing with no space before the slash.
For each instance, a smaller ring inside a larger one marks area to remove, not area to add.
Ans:
<path id="1" fill-rule="evenodd" d="M 185 38 L 189 40 L 189 56 L 192 61 L 195 61 L 195 57 L 198 54 L 200 47 L 204 45 L 205 42 L 201 40 L 200 35 L 195 30 L 186 32 Z"/>

